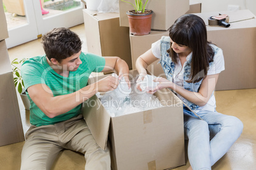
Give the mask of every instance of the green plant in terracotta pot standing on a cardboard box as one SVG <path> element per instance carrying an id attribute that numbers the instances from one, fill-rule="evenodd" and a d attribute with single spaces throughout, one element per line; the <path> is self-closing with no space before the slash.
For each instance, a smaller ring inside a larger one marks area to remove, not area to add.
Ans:
<path id="1" fill-rule="evenodd" d="M 132 4 L 128 1 L 121 1 Z M 135 0 L 135 4 L 132 4 L 134 10 L 127 11 L 130 33 L 134 36 L 150 34 L 153 11 L 145 9 L 146 3 L 148 0 L 144 4 L 143 0 Z"/>

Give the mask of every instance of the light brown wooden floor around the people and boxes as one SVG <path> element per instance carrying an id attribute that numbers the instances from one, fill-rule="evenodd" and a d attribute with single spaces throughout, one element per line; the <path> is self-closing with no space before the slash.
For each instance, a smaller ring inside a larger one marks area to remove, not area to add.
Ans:
<path id="1" fill-rule="evenodd" d="M 83 40 L 83 51 L 87 51 L 84 25 L 71 28 L 77 32 Z M 32 48 L 31 48 L 32 47 Z M 31 56 L 43 55 L 41 40 L 27 42 L 15 48 L 8 49 L 10 60 L 14 58 L 30 58 Z M 214 170 L 254 170 L 256 169 L 256 89 L 240 89 L 231 91 L 216 91 L 217 111 L 222 114 L 234 115 L 244 124 L 243 133 L 229 152 L 222 157 L 213 167 Z M 29 128 L 29 111 L 25 110 L 22 101 L 18 98 L 20 114 L 24 133 Z M 24 142 L 0 147 L 0 169 L 20 169 L 20 154 Z M 186 159 L 187 160 L 187 159 Z M 189 166 L 177 167 L 176 170 L 185 170 Z M 61 152 L 52 169 L 75 169 L 85 167 L 85 159 L 82 154 L 64 150 Z M 122 169 L 120 169 L 122 170 Z M 139 170 L 139 169 L 132 169 Z"/>

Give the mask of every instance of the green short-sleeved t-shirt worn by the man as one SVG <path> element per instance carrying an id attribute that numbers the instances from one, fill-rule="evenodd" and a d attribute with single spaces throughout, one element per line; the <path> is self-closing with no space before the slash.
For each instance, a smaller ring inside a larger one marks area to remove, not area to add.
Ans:
<path id="1" fill-rule="evenodd" d="M 34 84 L 46 84 L 53 93 L 53 96 L 67 95 L 87 86 L 89 75 L 92 72 L 101 72 L 105 65 L 105 59 L 91 53 L 81 53 L 82 64 L 74 72 L 69 72 L 69 77 L 57 74 L 48 65 L 46 56 L 36 56 L 26 60 L 22 65 L 21 75 L 24 79 L 25 89 Z M 40 94 L 38 94 L 40 95 Z M 80 114 L 82 104 L 69 110 L 65 114 L 53 118 L 47 117 L 31 100 L 29 94 L 30 122 L 34 126 L 43 126 L 66 121 Z"/>

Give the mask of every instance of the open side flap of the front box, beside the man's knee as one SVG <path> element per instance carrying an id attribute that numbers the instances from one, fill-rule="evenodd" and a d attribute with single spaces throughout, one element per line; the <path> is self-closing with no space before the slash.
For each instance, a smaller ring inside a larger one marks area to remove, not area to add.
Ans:
<path id="1" fill-rule="evenodd" d="M 83 102 L 82 114 L 97 144 L 105 150 L 110 128 L 110 115 L 96 95 Z"/>

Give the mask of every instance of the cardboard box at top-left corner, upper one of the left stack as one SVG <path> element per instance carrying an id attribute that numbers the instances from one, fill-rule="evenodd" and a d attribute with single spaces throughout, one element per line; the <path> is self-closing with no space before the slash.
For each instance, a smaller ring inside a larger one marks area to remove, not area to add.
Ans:
<path id="1" fill-rule="evenodd" d="M 0 41 L 8 38 L 7 23 L 4 14 L 3 0 L 0 0 Z"/>

